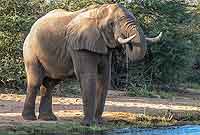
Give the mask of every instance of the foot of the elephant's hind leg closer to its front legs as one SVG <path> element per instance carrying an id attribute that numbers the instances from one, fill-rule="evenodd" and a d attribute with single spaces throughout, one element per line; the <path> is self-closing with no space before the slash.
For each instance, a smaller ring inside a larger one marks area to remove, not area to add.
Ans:
<path id="1" fill-rule="evenodd" d="M 56 121 L 57 117 L 53 112 L 47 113 L 47 112 L 42 112 L 39 114 L 38 119 L 40 120 L 45 120 L 45 121 Z"/>

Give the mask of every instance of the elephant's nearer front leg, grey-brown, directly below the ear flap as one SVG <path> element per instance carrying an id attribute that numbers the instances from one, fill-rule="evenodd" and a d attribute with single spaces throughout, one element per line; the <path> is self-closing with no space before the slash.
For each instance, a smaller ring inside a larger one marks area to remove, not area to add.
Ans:
<path id="1" fill-rule="evenodd" d="M 84 112 L 82 124 L 90 126 L 95 122 L 97 65 L 100 56 L 89 51 L 73 51 L 71 55 L 81 84 Z"/>

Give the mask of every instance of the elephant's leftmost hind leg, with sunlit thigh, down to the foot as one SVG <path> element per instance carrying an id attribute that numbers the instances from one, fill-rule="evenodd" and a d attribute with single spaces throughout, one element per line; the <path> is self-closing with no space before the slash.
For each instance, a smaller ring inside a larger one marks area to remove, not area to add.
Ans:
<path id="1" fill-rule="evenodd" d="M 27 94 L 22 116 L 25 120 L 36 120 L 35 100 L 43 77 L 42 67 L 39 63 L 25 63 L 25 68 L 27 74 Z"/>

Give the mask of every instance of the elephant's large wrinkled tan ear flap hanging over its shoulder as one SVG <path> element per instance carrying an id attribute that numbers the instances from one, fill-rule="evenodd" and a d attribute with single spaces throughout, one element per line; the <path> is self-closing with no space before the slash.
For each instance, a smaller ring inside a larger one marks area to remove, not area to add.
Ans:
<path id="1" fill-rule="evenodd" d="M 66 38 L 72 49 L 101 54 L 108 52 L 96 18 L 78 15 L 67 25 Z"/>

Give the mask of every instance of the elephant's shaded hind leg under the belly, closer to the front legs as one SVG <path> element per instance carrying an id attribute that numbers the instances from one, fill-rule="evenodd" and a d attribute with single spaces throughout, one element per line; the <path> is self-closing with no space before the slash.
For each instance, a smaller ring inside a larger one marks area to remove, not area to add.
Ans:
<path id="1" fill-rule="evenodd" d="M 41 120 L 57 120 L 52 111 L 52 90 L 60 80 L 45 78 L 40 87 L 41 101 L 39 107 L 38 119 Z"/>

